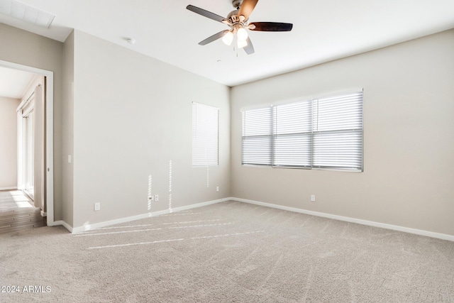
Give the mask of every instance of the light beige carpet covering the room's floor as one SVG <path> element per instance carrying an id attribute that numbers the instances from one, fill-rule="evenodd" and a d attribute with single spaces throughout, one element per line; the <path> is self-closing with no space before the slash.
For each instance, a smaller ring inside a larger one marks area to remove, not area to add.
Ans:
<path id="1" fill-rule="evenodd" d="M 19 287 L 0 302 L 454 302 L 454 242 L 223 202 L 1 235 L 0 285 Z"/>

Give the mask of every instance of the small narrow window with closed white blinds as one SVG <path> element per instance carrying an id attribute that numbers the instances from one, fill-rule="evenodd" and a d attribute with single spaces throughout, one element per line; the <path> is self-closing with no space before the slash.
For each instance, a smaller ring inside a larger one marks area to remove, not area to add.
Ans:
<path id="1" fill-rule="evenodd" d="M 218 165 L 219 109 L 192 103 L 192 166 Z"/>

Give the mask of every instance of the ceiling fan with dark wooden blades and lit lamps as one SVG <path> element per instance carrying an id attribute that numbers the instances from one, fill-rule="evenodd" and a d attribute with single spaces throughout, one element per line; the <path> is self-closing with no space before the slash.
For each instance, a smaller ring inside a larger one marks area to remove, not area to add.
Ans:
<path id="1" fill-rule="evenodd" d="M 216 15 L 199 7 L 188 5 L 186 8 L 189 11 L 198 13 L 206 18 L 213 19 L 224 23 L 228 26 L 228 30 L 220 31 L 211 35 L 211 37 L 199 42 L 199 45 L 206 45 L 215 40 L 222 38 L 223 43 L 231 45 L 234 38 L 236 38 L 236 45 L 238 48 L 243 48 L 245 52 L 250 55 L 254 53 L 253 43 L 250 42 L 248 31 L 292 31 L 292 23 L 280 22 L 253 22 L 249 23 L 250 13 L 253 12 L 258 0 L 233 0 L 232 4 L 235 8 L 234 11 L 228 14 L 227 18 Z"/>

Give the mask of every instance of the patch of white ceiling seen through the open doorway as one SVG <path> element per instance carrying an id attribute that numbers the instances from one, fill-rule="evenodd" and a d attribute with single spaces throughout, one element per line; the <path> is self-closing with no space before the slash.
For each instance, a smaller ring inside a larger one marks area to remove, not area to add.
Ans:
<path id="1" fill-rule="evenodd" d="M 21 99 L 33 77 L 31 72 L 0 66 L 0 97 Z"/>

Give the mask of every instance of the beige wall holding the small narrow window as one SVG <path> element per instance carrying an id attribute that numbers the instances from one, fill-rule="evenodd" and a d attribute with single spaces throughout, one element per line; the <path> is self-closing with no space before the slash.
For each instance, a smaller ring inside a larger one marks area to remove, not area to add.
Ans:
<path id="1" fill-rule="evenodd" d="M 220 109 L 209 187 L 192 168 L 192 101 Z M 229 197 L 229 140 L 228 87 L 74 32 L 74 227 L 168 209 L 170 161 L 172 208 Z M 150 176 L 160 201 L 148 207 Z"/>

